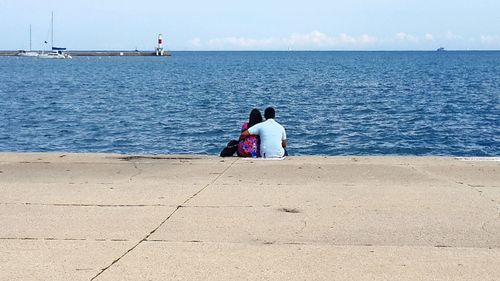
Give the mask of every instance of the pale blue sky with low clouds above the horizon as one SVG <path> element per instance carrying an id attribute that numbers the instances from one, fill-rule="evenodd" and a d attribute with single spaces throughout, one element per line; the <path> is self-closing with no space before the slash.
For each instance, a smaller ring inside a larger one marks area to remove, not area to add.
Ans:
<path id="1" fill-rule="evenodd" d="M 500 50 L 499 0 L 0 0 L 0 50 Z"/>

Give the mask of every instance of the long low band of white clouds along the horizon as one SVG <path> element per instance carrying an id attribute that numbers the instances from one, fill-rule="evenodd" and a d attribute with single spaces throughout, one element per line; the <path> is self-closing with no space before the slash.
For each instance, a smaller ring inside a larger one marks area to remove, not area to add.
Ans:
<path id="1" fill-rule="evenodd" d="M 424 49 L 439 46 L 449 49 L 498 48 L 500 36 L 485 34 L 474 38 L 462 37 L 452 32 L 442 34 L 411 34 L 399 32 L 389 37 L 375 37 L 369 34 L 351 35 L 340 33 L 329 35 L 315 30 L 308 33 L 292 33 L 285 37 L 250 38 L 229 36 L 212 39 L 193 38 L 188 42 L 197 50 L 381 50 L 381 49 Z"/>

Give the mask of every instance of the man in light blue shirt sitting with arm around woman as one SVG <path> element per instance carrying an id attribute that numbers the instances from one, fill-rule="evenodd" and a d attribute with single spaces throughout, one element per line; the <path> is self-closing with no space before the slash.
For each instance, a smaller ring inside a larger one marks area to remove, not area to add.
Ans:
<path id="1" fill-rule="evenodd" d="M 274 120 L 274 108 L 264 111 L 266 121 L 256 124 L 241 133 L 240 139 L 249 135 L 260 136 L 260 156 L 263 158 L 281 158 L 286 156 L 285 147 L 288 144 L 285 128 Z"/>

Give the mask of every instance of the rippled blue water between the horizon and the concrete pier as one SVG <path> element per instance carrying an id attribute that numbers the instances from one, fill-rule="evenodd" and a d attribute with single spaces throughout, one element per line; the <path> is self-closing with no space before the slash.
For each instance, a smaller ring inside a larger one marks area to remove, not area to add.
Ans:
<path id="1" fill-rule="evenodd" d="M 291 155 L 500 155 L 500 52 L 0 58 L 0 151 L 218 154 L 274 106 Z"/>

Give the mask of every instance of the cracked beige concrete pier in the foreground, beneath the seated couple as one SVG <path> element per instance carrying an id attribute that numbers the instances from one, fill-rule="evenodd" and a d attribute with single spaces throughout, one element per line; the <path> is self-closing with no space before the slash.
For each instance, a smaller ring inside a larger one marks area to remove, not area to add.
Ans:
<path id="1" fill-rule="evenodd" d="M 495 158 L 0 153 L 0 280 L 499 280 Z"/>

